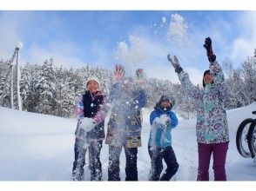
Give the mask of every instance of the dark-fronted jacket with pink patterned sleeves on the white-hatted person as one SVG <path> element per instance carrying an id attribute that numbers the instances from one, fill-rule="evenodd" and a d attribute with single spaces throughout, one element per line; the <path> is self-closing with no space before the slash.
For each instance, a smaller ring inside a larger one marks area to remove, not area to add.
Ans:
<path id="1" fill-rule="evenodd" d="M 96 126 L 86 134 L 88 140 L 103 140 L 104 139 L 104 118 L 106 116 L 105 96 L 98 91 L 96 94 L 91 94 L 85 91 L 85 94 L 77 98 L 75 114 L 77 116 L 77 137 L 84 135 L 84 129 L 79 128 L 79 123 L 84 117 L 93 118 Z"/>

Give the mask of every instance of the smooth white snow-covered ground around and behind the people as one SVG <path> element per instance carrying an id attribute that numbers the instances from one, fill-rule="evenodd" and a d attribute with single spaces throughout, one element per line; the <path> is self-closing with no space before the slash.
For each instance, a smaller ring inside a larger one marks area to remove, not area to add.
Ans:
<path id="1" fill-rule="evenodd" d="M 239 155 L 235 135 L 239 123 L 254 117 L 256 102 L 227 111 L 230 144 L 226 160 L 228 181 L 256 181 L 256 163 Z M 138 148 L 138 179 L 147 181 L 150 158 L 147 140 L 150 132 L 149 109 L 144 109 L 142 147 Z M 74 159 L 75 119 L 40 115 L 0 107 L 0 181 L 71 181 Z M 180 120 L 172 130 L 172 147 L 179 162 L 176 181 L 195 181 L 198 168 L 195 120 Z M 88 155 L 86 156 L 88 158 Z M 86 158 L 86 160 L 87 160 Z M 88 160 L 87 160 L 88 161 Z M 108 146 L 101 153 L 103 180 L 107 180 Z M 85 180 L 90 180 L 88 163 Z M 212 167 L 210 177 L 213 180 Z M 121 154 L 121 179 L 125 179 L 125 154 Z"/>

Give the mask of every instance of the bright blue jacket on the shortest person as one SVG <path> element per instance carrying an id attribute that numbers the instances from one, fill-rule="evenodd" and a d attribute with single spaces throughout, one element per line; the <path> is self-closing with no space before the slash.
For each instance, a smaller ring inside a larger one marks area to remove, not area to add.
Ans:
<path id="1" fill-rule="evenodd" d="M 157 148 L 166 148 L 172 146 L 172 128 L 178 125 L 178 118 L 171 110 L 162 109 L 159 104 L 150 115 L 150 123 L 152 125 L 149 146 Z"/>

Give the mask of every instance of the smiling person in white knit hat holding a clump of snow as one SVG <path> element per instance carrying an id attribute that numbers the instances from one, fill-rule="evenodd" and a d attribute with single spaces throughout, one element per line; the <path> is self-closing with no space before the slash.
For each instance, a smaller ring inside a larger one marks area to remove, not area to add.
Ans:
<path id="1" fill-rule="evenodd" d="M 91 181 L 102 180 L 100 151 L 104 140 L 104 118 L 106 116 L 105 96 L 99 90 L 97 77 L 89 77 L 84 95 L 77 98 L 75 113 L 77 129 L 75 132 L 75 161 L 73 162 L 73 181 L 84 180 L 85 153 L 89 149 L 89 168 Z"/>

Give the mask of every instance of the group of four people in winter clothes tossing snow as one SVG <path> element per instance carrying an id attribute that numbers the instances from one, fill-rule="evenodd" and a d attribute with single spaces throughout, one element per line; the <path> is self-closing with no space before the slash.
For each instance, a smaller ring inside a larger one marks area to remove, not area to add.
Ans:
<path id="1" fill-rule="evenodd" d="M 209 181 L 209 166 L 213 155 L 215 181 L 226 181 L 226 153 L 228 149 L 228 127 L 224 100 L 226 83 L 216 56 L 212 51 L 212 40 L 205 38 L 204 47 L 209 60 L 209 69 L 203 76 L 204 89 L 198 89 L 181 68 L 177 56 L 167 56 L 179 81 L 197 105 L 196 135 L 199 153 L 198 181 Z M 84 95 L 77 98 L 75 132 L 75 161 L 72 179 L 84 180 L 85 153 L 89 150 L 91 181 L 102 180 L 100 151 L 103 141 L 109 145 L 108 181 L 120 181 L 119 158 L 125 149 L 125 181 L 138 181 L 137 155 L 141 147 L 142 108 L 147 102 L 143 69 L 136 71 L 136 80 L 125 77 L 122 65 L 116 65 L 116 82 L 111 87 L 109 98 L 100 91 L 97 77 L 87 79 Z M 172 148 L 172 128 L 178 126 L 178 118 L 172 111 L 174 100 L 161 95 L 150 114 L 151 133 L 148 152 L 151 158 L 149 181 L 170 181 L 179 169 L 179 163 Z M 104 135 L 104 119 L 111 112 Z M 163 175 L 163 160 L 166 169 Z"/>

